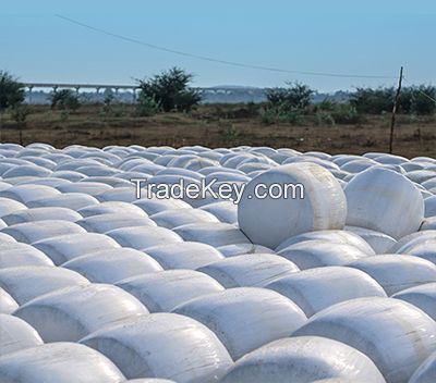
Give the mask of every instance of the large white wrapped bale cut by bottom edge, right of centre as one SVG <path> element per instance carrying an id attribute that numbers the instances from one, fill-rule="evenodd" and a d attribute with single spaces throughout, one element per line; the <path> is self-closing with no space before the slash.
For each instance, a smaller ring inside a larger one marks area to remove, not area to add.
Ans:
<path id="1" fill-rule="evenodd" d="M 271 342 L 238 360 L 221 383 L 324 382 L 324 379 L 338 383 L 385 383 L 366 355 L 319 336 Z"/>

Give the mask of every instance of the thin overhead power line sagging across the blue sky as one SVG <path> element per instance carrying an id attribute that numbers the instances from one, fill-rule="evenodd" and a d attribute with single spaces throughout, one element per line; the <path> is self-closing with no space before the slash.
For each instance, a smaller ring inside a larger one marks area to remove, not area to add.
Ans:
<path id="1" fill-rule="evenodd" d="M 278 73 L 290 73 L 290 74 L 301 74 L 301 75 L 306 75 L 306 76 L 324 76 L 324 77 L 343 77 L 343 78 L 385 78 L 385 79 L 397 79 L 397 76 L 384 76 L 384 75 L 361 75 L 361 74 L 341 74 L 341 73 L 327 73 L 327 72 L 310 72 L 310 71 L 292 71 L 292 70 L 286 70 L 286 69 L 280 69 L 280 67 L 272 67 L 272 66 L 263 66 L 263 65 L 253 65 L 253 64 L 247 64 L 247 63 L 242 63 L 242 62 L 235 62 L 235 61 L 228 61 L 228 60 L 220 60 L 216 58 L 210 58 L 207 55 L 201 55 L 201 54 L 194 54 L 194 53 L 189 53 L 162 46 L 158 46 L 155 44 L 142 41 L 132 37 L 128 37 L 124 35 L 116 34 L 99 27 L 95 27 L 93 25 L 85 24 L 83 22 L 80 22 L 77 20 L 61 15 L 61 14 L 56 14 L 56 17 L 59 17 L 63 21 L 66 21 L 69 23 L 78 25 L 81 27 L 87 28 L 89 30 L 94 30 L 107 36 L 111 36 L 114 38 L 118 38 L 120 40 L 129 41 L 132 44 L 136 44 L 143 47 L 147 47 L 150 49 L 155 50 L 160 50 L 164 52 L 168 53 L 173 53 L 173 54 L 179 54 L 192 59 L 197 59 L 197 60 L 203 60 L 203 61 L 209 61 L 209 62 L 215 62 L 218 64 L 225 64 L 225 65 L 232 65 L 232 66 L 239 66 L 239 67 L 246 67 L 246 69 L 252 69 L 252 70 L 258 70 L 258 71 L 268 71 L 268 72 L 278 72 Z"/>

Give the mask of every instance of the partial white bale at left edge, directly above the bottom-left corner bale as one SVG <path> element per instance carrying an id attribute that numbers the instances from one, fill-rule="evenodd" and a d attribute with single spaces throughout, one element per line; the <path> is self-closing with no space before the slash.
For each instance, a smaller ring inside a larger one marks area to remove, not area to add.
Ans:
<path id="1" fill-rule="evenodd" d="M 44 342 L 28 323 L 20 318 L 0 313 L 0 357 Z"/>

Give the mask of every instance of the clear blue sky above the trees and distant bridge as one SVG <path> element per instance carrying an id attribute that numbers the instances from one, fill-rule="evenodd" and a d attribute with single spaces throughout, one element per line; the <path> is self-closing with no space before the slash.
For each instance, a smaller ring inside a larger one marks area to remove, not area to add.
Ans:
<path id="1" fill-rule="evenodd" d="M 319 90 L 391 85 L 395 79 L 336 78 L 229 66 L 153 50 L 98 34 L 62 14 L 149 44 L 218 60 L 286 70 L 396 76 L 436 83 L 436 1 L 340 0 L 4 0 L 0 69 L 22 81 L 131 84 L 178 65 L 195 85 Z"/>

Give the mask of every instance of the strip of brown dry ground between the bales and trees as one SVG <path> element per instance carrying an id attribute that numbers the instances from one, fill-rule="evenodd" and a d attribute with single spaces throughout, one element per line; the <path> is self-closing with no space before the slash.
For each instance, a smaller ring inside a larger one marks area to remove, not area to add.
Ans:
<path id="1" fill-rule="evenodd" d="M 354 125 L 319 124 L 305 116 L 299 124 L 266 125 L 244 106 L 202 106 L 190 114 L 162 113 L 150 118 L 133 116 L 132 106 L 114 106 L 108 113 L 100 106 L 85 106 L 65 113 L 49 107 L 32 107 L 22 129 L 23 144 L 48 143 L 62 148 L 72 144 L 107 145 L 239 145 L 288 147 L 300 151 L 335 153 L 388 151 L 390 115 L 364 116 Z M 19 125 L 5 114 L 0 138 L 20 143 Z M 408 158 L 436 158 L 436 119 L 399 115 L 393 152 Z"/>

